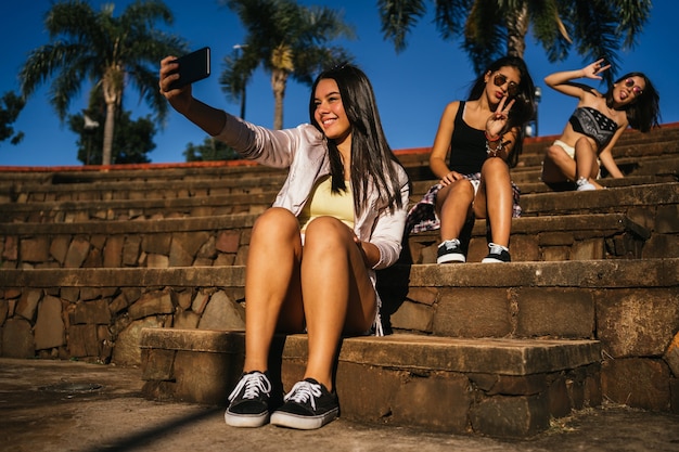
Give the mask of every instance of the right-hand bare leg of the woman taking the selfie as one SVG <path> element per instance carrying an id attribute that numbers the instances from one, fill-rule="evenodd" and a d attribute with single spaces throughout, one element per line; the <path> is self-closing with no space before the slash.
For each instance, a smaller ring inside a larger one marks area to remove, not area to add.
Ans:
<path id="1" fill-rule="evenodd" d="M 354 232 L 332 217 L 306 230 L 302 290 L 309 335 L 305 378 L 332 390 L 332 370 L 343 332 L 360 334 L 372 325 L 375 292 Z"/>

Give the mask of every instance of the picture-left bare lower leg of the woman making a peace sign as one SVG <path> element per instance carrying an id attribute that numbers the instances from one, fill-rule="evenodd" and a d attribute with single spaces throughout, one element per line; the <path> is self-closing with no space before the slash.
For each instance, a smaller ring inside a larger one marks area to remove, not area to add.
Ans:
<path id="1" fill-rule="evenodd" d="M 469 218 L 474 188 L 466 179 L 444 186 L 436 195 L 436 211 L 440 218 L 440 240 L 460 238 L 464 222 Z"/>

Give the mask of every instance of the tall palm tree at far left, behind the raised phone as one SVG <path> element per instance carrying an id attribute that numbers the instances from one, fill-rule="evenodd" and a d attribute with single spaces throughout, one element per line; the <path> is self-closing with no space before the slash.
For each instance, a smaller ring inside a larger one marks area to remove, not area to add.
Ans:
<path id="1" fill-rule="evenodd" d="M 30 52 L 20 73 L 25 96 L 53 76 L 50 102 L 62 120 L 86 79 L 92 93 L 101 90 L 106 103 L 102 165 L 112 163 L 114 122 L 125 88 L 131 83 L 139 90 L 163 121 L 168 106 L 157 89 L 158 61 L 187 51 L 180 38 L 153 28 L 157 21 L 172 22 L 162 1 L 138 0 L 119 17 L 113 10 L 108 3 L 97 13 L 84 0 L 55 3 L 44 20 L 51 42 Z"/>

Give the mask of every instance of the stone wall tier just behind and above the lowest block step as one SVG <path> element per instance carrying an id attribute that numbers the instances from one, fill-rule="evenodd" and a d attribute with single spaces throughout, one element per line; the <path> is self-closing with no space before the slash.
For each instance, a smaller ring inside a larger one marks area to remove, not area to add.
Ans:
<path id="1" fill-rule="evenodd" d="M 382 288 L 383 314 L 396 334 L 598 339 L 607 399 L 679 412 L 678 263 L 413 266 Z M 137 365 L 143 328 L 244 327 L 243 267 L 40 272 L 0 276 L 0 356 Z"/>

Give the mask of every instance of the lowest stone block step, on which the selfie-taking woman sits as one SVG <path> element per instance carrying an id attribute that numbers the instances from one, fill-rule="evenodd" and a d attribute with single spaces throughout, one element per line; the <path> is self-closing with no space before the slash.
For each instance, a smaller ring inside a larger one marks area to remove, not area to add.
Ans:
<path id="1" fill-rule="evenodd" d="M 146 397 L 225 404 L 242 370 L 244 337 L 146 328 L 141 348 Z M 278 337 L 273 349 L 272 379 L 290 390 L 304 377 L 306 335 Z M 527 438 L 551 417 L 601 403 L 600 362 L 595 340 L 354 337 L 342 343 L 335 382 L 346 419 Z"/>

